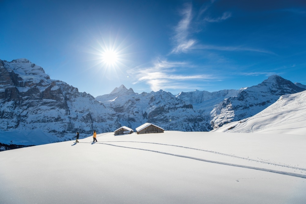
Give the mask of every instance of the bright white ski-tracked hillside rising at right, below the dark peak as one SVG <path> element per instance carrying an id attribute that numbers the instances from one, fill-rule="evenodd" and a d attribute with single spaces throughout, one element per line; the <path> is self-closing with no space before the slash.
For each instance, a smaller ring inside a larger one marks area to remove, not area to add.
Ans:
<path id="1" fill-rule="evenodd" d="M 281 96 L 277 102 L 247 119 L 211 132 L 253 132 L 306 135 L 306 91 Z"/>

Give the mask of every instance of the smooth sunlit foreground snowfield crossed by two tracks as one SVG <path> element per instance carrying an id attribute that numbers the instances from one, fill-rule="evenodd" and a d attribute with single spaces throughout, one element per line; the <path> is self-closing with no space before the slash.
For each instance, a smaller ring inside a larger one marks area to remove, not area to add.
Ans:
<path id="1" fill-rule="evenodd" d="M 0 152 L 0 203 L 305 203 L 306 136 L 104 133 Z"/>

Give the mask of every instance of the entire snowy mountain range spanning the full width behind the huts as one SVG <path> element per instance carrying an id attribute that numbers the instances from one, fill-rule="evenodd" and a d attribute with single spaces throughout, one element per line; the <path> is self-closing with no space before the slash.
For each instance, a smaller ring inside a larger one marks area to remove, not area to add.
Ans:
<path id="1" fill-rule="evenodd" d="M 272 75 L 240 90 L 138 94 L 121 85 L 94 98 L 51 80 L 42 67 L 24 58 L 0 60 L 0 73 L 0 143 L 7 145 L 53 143 L 72 139 L 76 131 L 88 136 L 94 129 L 113 132 L 147 122 L 166 131 L 211 131 L 256 115 L 282 95 L 306 90 Z"/>

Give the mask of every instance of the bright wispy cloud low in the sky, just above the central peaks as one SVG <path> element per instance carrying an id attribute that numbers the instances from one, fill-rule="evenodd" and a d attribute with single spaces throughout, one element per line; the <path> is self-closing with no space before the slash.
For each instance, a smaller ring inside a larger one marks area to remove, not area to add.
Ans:
<path id="1" fill-rule="evenodd" d="M 212 75 L 183 75 L 177 74 L 177 69 L 186 69 L 192 67 L 186 62 L 167 61 L 157 59 L 151 67 L 137 67 L 129 72 L 136 75 L 136 83 L 147 83 L 151 90 L 158 91 L 160 89 L 182 89 L 188 85 L 190 80 L 214 80 Z"/>

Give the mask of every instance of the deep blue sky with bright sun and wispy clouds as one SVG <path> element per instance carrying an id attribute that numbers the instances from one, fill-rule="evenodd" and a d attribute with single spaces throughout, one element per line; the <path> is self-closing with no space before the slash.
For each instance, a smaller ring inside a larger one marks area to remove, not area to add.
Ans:
<path id="1" fill-rule="evenodd" d="M 306 84 L 306 2 L 0 0 L 0 59 L 94 97 Z M 112 60 L 110 61 L 109 58 Z"/>

